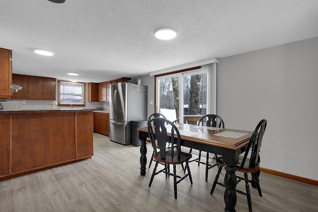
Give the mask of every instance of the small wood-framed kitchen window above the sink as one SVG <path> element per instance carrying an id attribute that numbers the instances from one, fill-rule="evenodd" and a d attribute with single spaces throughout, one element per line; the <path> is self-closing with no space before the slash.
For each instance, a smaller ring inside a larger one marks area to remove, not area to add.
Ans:
<path id="1" fill-rule="evenodd" d="M 85 83 L 58 81 L 58 106 L 85 106 Z"/>

